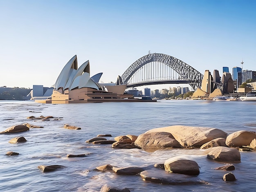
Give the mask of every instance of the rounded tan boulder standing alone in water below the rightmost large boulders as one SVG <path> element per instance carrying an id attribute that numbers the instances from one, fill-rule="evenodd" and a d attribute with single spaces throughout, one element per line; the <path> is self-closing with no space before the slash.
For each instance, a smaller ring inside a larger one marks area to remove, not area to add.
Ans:
<path id="1" fill-rule="evenodd" d="M 236 162 L 240 161 L 240 153 L 236 148 L 229 147 L 213 147 L 207 155 L 208 159 L 220 162 Z"/>

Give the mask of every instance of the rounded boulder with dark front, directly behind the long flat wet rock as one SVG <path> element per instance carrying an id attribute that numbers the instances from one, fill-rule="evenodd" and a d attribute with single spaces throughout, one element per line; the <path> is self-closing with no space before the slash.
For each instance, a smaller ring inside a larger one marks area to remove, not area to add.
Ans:
<path id="1" fill-rule="evenodd" d="M 198 175 L 200 173 L 198 163 L 188 159 L 181 159 L 179 157 L 167 159 L 164 162 L 164 168 L 167 172 L 170 173 L 180 173 L 187 175 Z"/>

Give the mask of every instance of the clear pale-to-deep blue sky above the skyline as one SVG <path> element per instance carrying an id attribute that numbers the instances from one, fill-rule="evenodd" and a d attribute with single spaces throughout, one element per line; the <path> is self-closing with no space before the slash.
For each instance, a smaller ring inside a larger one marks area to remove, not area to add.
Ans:
<path id="1" fill-rule="evenodd" d="M 255 0 L 0 0 L 0 26 L 0 86 L 50 87 L 74 55 L 104 83 L 148 51 L 256 71 Z"/>

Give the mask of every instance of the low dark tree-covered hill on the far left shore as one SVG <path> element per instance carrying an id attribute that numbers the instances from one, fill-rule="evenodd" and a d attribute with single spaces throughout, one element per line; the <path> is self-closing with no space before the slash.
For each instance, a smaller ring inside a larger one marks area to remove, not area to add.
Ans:
<path id="1" fill-rule="evenodd" d="M 29 100 L 31 89 L 19 87 L 0 87 L 0 100 Z"/>

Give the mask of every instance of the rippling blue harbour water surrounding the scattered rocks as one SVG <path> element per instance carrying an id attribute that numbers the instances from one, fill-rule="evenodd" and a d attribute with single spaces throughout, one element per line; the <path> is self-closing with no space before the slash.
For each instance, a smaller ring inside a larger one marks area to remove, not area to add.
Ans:
<path id="1" fill-rule="evenodd" d="M 225 182 L 225 171 L 213 170 L 222 166 L 208 160 L 204 150 L 112 149 L 111 145 L 93 145 L 86 140 L 97 134 L 139 135 L 149 129 L 170 125 L 214 127 L 227 133 L 256 129 L 256 102 L 161 100 L 157 103 L 87 103 L 38 104 L 29 101 L 0 101 L 0 131 L 12 125 L 31 123 L 44 128 L 28 132 L 0 134 L 0 191 L 75 191 L 98 192 L 104 184 L 129 188 L 132 192 L 173 191 L 249 191 L 256 176 L 256 152 L 240 152 L 241 163 L 234 164 L 235 182 Z M 28 116 L 63 117 L 60 121 L 33 121 Z M 64 124 L 81 130 L 64 129 Z M 26 143 L 10 144 L 16 136 Z M 6 156 L 7 151 L 20 153 Z M 90 153 L 86 157 L 66 158 L 67 154 Z M 139 166 L 154 170 L 155 163 L 182 155 L 198 163 L 197 179 L 209 185 L 161 185 L 143 181 L 140 176 L 96 172 L 95 167 L 111 164 L 119 167 Z M 38 165 L 63 165 L 55 172 L 41 172 Z"/>

